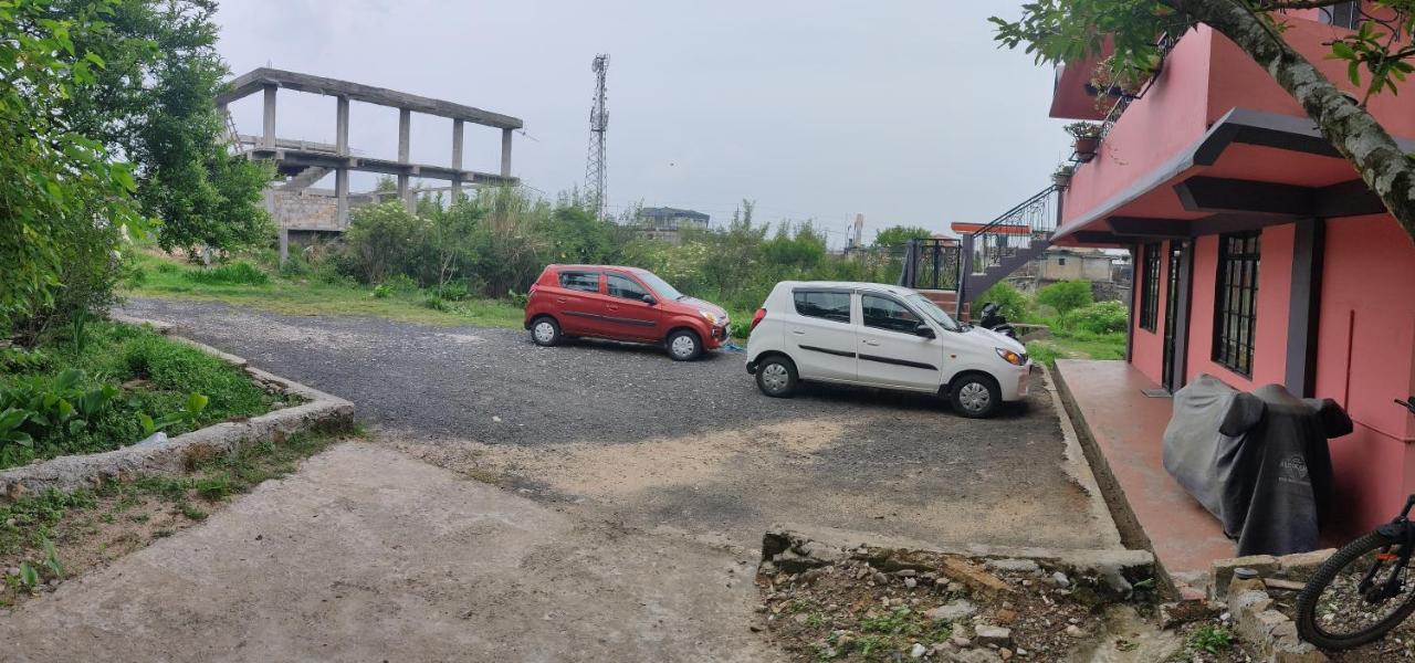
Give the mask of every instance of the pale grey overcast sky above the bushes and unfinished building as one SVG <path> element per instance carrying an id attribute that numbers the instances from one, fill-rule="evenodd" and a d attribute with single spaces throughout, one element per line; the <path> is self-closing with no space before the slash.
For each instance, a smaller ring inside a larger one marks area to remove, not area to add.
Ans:
<path id="1" fill-rule="evenodd" d="M 832 245 L 879 228 L 988 221 L 1049 184 L 1070 151 L 1047 117 L 1050 68 L 999 51 L 1012 0 L 539 1 L 222 0 L 235 74 L 276 66 L 449 99 L 525 120 L 512 172 L 555 195 L 582 184 L 608 69 L 608 202 L 726 222 L 815 219 Z M 283 92 L 279 134 L 334 140 L 334 99 Z M 259 133 L 259 95 L 232 105 Z M 396 157 L 398 112 L 362 103 L 350 141 Z M 449 163 L 451 120 L 413 116 L 412 158 Z M 466 167 L 495 171 L 499 131 L 468 124 Z M 333 178 L 331 178 L 333 180 Z M 432 184 L 432 182 L 429 182 Z M 372 177 L 352 180 L 355 191 Z"/>

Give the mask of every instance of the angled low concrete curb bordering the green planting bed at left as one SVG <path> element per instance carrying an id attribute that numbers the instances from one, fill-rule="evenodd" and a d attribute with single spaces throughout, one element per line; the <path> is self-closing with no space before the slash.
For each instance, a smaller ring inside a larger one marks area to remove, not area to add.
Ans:
<path id="1" fill-rule="evenodd" d="M 197 341 L 171 336 L 173 325 L 127 315 L 112 314 L 109 319 L 144 325 L 171 339 L 208 352 L 226 363 L 241 368 L 252 380 L 275 392 L 300 396 L 306 401 L 282 407 L 245 421 L 222 421 L 158 444 L 123 447 L 102 454 L 64 455 L 34 465 L 0 471 L 0 498 L 17 499 L 30 491 L 74 491 L 93 488 L 103 479 L 130 479 L 144 475 L 180 474 L 197 461 L 236 451 L 263 440 L 282 442 L 296 433 L 320 427 L 347 424 L 354 418 L 354 403 L 330 396 L 317 389 L 250 368 L 239 356 L 218 351 Z"/>

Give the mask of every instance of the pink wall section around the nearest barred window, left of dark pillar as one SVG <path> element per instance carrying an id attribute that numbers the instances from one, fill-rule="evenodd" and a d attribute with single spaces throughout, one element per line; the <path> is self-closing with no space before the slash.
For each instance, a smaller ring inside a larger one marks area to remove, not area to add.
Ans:
<path id="1" fill-rule="evenodd" d="M 1189 379 L 1208 373 L 1235 389 L 1282 383 L 1288 372 L 1288 304 L 1292 298 L 1293 226 L 1262 230 L 1258 263 L 1258 331 L 1254 336 L 1252 376 L 1244 377 L 1214 363 L 1214 298 L 1218 281 L 1218 236 L 1194 242 L 1193 308 L 1189 317 Z"/>

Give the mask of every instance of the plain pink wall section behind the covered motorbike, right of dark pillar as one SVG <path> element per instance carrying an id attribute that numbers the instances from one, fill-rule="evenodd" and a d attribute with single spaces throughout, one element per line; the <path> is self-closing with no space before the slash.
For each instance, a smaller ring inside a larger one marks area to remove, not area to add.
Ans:
<path id="1" fill-rule="evenodd" d="M 1415 393 L 1415 245 L 1385 215 L 1327 223 L 1317 396 L 1336 399 L 1356 433 L 1332 441 L 1350 532 L 1387 520 L 1415 492 L 1415 417 L 1391 403 Z"/>

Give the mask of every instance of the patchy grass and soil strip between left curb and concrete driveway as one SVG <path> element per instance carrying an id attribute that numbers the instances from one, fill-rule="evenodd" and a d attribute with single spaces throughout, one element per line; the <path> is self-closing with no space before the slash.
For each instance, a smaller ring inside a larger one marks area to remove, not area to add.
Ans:
<path id="1" fill-rule="evenodd" d="M 4 574 L 0 606 L 62 580 L 61 574 L 82 573 L 202 522 L 228 498 L 286 476 L 304 458 L 362 434 L 357 428 L 299 434 L 209 458 L 180 476 L 110 479 L 95 489 L 45 491 L 0 505 L 0 574 L 25 568 L 37 581 Z"/>

